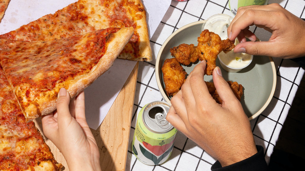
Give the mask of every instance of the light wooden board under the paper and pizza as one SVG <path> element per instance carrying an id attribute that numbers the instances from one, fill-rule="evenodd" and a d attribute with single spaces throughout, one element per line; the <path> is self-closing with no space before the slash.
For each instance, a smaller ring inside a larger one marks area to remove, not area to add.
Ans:
<path id="1" fill-rule="evenodd" d="M 138 65 L 139 62 L 129 75 L 102 124 L 97 130 L 90 128 L 99 147 L 101 168 L 105 171 L 125 170 Z M 34 122 L 44 136 L 56 161 L 64 166 L 64 171 L 69 171 L 62 153 L 43 134 L 41 118 L 37 118 Z"/>

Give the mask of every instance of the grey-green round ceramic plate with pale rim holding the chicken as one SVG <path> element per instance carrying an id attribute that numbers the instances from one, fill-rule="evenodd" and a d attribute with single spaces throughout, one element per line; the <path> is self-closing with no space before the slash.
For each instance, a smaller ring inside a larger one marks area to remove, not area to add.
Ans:
<path id="1" fill-rule="evenodd" d="M 169 96 L 165 93 L 165 85 L 163 82 L 162 65 L 167 58 L 173 58 L 170 55 L 170 48 L 179 44 L 194 44 L 197 46 L 197 37 L 201 33 L 202 25 L 205 21 L 197 21 L 181 27 L 172 33 L 163 43 L 156 60 L 156 81 L 163 99 L 170 103 Z M 199 63 L 196 61 L 190 65 L 182 65 L 187 73 Z M 217 59 L 216 65 L 220 66 Z M 221 68 L 221 67 L 220 67 Z M 275 91 L 276 71 L 274 62 L 271 57 L 254 56 L 250 65 L 240 72 L 227 72 L 221 68 L 222 75 L 227 81 L 236 81 L 244 87 L 244 94 L 241 98 L 243 109 L 249 120 L 257 117 L 270 103 Z M 205 75 L 205 81 L 213 82 L 212 76 Z"/>

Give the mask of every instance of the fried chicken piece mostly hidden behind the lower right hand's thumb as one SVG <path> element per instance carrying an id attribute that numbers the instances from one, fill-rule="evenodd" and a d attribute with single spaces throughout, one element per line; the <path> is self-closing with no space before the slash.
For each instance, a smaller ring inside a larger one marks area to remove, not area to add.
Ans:
<path id="1" fill-rule="evenodd" d="M 231 82 L 231 81 L 228 81 L 228 84 L 230 85 L 230 87 L 231 87 L 234 95 L 236 96 L 236 98 L 240 101 L 241 97 L 242 97 L 242 94 L 243 94 L 242 85 L 238 84 L 237 82 Z M 211 94 L 213 99 L 217 103 L 222 104 L 222 100 L 219 97 L 219 94 L 218 94 L 218 92 L 217 92 L 217 90 L 214 86 L 214 83 L 213 82 L 206 82 L 206 86 L 208 87 L 209 93 Z"/>

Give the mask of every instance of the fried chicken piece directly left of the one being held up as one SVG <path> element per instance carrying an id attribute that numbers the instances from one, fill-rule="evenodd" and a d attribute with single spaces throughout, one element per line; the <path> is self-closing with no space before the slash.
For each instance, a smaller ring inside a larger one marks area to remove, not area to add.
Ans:
<path id="1" fill-rule="evenodd" d="M 170 53 L 182 65 L 189 65 L 198 60 L 200 51 L 194 44 L 180 44 L 170 48 Z"/>

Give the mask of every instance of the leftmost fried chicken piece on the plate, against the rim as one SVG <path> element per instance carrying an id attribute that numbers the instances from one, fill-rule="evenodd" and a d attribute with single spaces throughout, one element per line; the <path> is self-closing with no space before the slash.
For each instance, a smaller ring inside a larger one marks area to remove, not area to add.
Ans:
<path id="1" fill-rule="evenodd" d="M 187 74 L 176 58 L 166 59 L 161 68 L 167 96 L 174 96 L 185 82 Z"/>

